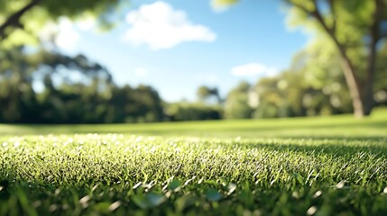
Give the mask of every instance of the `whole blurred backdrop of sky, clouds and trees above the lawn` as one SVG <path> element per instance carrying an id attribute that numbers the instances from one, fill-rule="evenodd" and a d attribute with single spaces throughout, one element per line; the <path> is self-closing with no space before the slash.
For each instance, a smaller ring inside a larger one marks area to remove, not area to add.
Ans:
<path id="1" fill-rule="evenodd" d="M 0 122 L 370 115 L 386 0 L 0 1 Z"/>

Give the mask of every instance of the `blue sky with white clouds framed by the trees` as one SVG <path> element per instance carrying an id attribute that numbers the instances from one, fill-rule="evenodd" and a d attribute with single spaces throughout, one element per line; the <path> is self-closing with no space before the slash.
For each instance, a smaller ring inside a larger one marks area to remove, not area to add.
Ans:
<path id="1" fill-rule="evenodd" d="M 219 11 L 209 0 L 132 0 L 113 31 L 62 20 L 57 45 L 105 65 L 118 85 L 152 85 L 168 102 L 194 101 L 199 85 L 225 96 L 241 80 L 255 83 L 288 67 L 307 43 L 289 30 L 282 6 L 245 0 Z"/>

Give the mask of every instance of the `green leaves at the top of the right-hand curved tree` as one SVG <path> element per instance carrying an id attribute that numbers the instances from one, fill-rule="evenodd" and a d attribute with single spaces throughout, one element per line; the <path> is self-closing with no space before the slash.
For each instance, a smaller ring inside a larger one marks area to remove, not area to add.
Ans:
<path id="1" fill-rule="evenodd" d="M 318 38 L 327 37 L 327 32 L 311 13 L 315 10 L 314 1 L 285 1 L 290 5 L 288 23 L 290 26 L 304 26 L 307 31 L 317 33 Z M 364 46 L 364 34 L 372 24 L 375 4 L 366 0 L 316 1 L 318 9 L 329 28 L 335 29 L 339 42 L 346 45 Z M 305 8 L 305 10 L 301 9 Z M 348 47 L 349 48 L 349 47 Z"/>

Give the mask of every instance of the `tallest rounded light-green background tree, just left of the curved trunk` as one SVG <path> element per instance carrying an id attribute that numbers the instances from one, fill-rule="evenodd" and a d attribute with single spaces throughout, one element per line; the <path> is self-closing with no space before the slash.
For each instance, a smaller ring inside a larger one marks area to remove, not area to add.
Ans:
<path id="1" fill-rule="evenodd" d="M 359 67 L 364 67 L 364 64 L 359 63 Z M 286 78 L 290 88 L 299 86 L 301 89 L 302 104 L 307 114 L 353 112 L 339 54 L 327 38 L 314 40 L 300 50 L 289 70 L 302 80 L 291 80 L 290 76 Z"/>

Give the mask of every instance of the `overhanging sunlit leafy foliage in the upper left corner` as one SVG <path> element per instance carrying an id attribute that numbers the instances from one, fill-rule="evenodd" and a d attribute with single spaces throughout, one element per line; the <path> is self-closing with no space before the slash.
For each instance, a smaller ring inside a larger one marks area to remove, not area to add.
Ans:
<path id="1" fill-rule="evenodd" d="M 61 16 L 78 19 L 85 14 L 97 17 L 102 27 L 112 24 L 109 14 L 120 0 L 18 0 L 0 2 L 0 44 L 12 34 L 36 40 L 36 35 L 49 21 Z M 1 22 L 4 21 L 4 22 Z M 25 40 L 25 39 L 23 39 Z"/>

